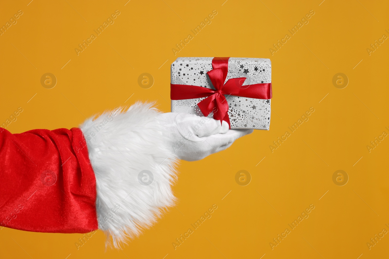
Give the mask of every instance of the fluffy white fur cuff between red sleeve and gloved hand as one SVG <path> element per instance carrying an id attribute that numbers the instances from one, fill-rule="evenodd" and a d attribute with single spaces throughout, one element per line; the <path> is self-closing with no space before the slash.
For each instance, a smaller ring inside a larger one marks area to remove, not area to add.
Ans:
<path id="1" fill-rule="evenodd" d="M 115 247 L 151 226 L 174 204 L 177 156 L 150 103 L 116 109 L 81 125 L 96 175 L 99 228 Z"/>

